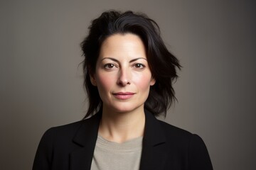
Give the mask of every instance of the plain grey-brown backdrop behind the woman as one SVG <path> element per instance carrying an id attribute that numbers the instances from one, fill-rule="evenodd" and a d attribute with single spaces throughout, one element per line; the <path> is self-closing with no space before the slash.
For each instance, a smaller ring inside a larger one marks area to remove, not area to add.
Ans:
<path id="1" fill-rule="evenodd" d="M 82 119 L 80 42 L 111 8 L 147 13 L 183 65 L 166 122 L 203 137 L 215 169 L 254 169 L 253 0 L 1 0 L 0 169 L 31 169 L 43 132 Z"/>

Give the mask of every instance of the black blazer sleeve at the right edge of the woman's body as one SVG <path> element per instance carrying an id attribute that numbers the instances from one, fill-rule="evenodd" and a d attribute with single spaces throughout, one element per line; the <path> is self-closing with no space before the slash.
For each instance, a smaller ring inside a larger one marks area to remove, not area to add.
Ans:
<path id="1" fill-rule="evenodd" d="M 198 135 L 192 135 L 188 147 L 188 169 L 212 170 L 210 156 L 205 143 Z"/>

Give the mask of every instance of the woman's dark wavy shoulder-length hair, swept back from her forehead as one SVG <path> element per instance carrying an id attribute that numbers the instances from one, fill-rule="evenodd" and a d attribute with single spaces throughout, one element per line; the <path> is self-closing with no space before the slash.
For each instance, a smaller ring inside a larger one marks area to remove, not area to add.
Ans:
<path id="1" fill-rule="evenodd" d="M 81 42 L 85 57 L 82 62 L 84 86 L 89 98 L 89 107 L 85 118 L 102 108 L 102 100 L 97 87 L 93 86 L 90 81 L 90 75 L 95 73 L 102 42 L 111 35 L 125 33 L 138 35 L 142 39 L 149 69 L 152 77 L 156 80 L 154 86 L 150 87 L 149 97 L 144 103 L 144 108 L 155 116 L 166 116 L 166 111 L 176 99 L 172 84 L 174 79 L 178 77 L 176 69 L 181 69 L 181 65 L 164 45 L 157 23 L 143 13 L 106 11 L 92 21 L 89 34 Z"/>

